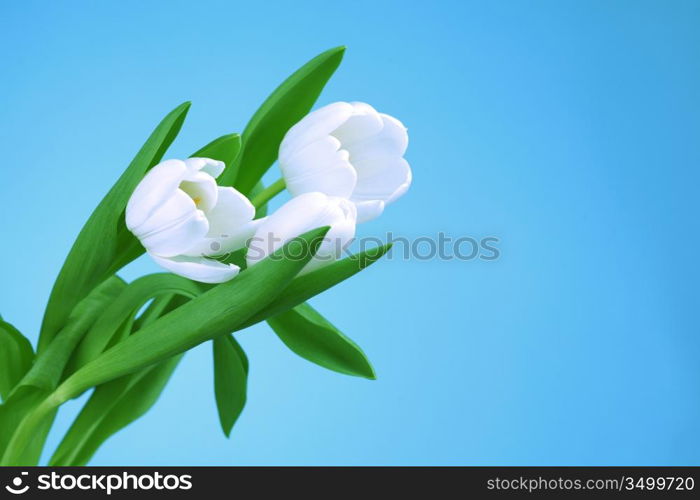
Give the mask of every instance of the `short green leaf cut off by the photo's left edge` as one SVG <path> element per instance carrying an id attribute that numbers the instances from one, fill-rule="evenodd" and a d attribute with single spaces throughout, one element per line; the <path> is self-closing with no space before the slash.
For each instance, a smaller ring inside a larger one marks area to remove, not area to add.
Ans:
<path id="1" fill-rule="evenodd" d="M 33 361 L 32 344 L 19 330 L 0 318 L 0 398 L 3 401 L 7 401 Z"/>

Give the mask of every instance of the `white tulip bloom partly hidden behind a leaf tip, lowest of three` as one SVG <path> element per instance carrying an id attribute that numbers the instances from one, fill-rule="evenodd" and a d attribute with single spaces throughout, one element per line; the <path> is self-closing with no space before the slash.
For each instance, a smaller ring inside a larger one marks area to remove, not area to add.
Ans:
<path id="1" fill-rule="evenodd" d="M 323 193 L 304 193 L 292 198 L 258 226 L 248 246 L 248 265 L 255 265 L 287 241 L 307 231 L 330 226 L 302 273 L 317 269 L 337 259 L 352 241 L 356 218 L 355 205 L 344 198 Z"/>

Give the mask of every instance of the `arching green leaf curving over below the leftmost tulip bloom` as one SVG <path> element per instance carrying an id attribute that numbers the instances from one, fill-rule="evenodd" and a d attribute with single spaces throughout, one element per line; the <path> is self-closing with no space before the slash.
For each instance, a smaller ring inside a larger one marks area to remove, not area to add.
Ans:
<path id="1" fill-rule="evenodd" d="M 201 290 L 195 282 L 170 273 L 149 274 L 134 280 L 103 309 L 76 349 L 70 371 L 84 366 L 126 337 L 136 314 L 149 300 L 170 294 L 194 298 Z"/>

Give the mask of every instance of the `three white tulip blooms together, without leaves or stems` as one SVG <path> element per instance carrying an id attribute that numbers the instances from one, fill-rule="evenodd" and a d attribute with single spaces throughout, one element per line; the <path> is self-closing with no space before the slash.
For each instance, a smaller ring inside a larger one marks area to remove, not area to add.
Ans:
<path id="1" fill-rule="evenodd" d="M 407 146 L 397 119 L 368 104 L 336 102 L 309 113 L 284 137 L 278 161 L 293 198 L 270 216 L 255 219 L 248 198 L 216 184 L 222 162 L 189 158 L 149 171 L 129 200 L 126 225 L 159 265 L 204 283 L 235 277 L 240 268 L 216 257 L 251 239 L 265 250 L 248 252 L 249 266 L 306 231 L 330 226 L 308 271 L 352 240 L 357 223 L 379 216 L 406 192 Z"/>

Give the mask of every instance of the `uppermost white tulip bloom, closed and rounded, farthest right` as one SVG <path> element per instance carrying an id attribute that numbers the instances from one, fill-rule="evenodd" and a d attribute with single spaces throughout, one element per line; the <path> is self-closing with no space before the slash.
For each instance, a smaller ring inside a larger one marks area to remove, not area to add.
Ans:
<path id="1" fill-rule="evenodd" d="M 358 222 L 379 216 L 411 185 L 406 127 L 369 104 L 336 102 L 284 137 L 279 165 L 292 196 L 318 191 L 352 201 Z"/>

